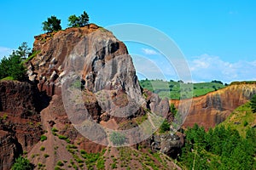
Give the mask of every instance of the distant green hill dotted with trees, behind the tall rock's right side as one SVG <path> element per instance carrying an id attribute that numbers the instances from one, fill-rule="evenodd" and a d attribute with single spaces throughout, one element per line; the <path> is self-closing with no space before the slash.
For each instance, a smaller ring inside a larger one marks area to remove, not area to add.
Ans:
<path id="1" fill-rule="evenodd" d="M 191 97 L 198 97 L 225 87 L 220 81 L 183 83 L 147 79 L 141 80 L 140 85 L 155 94 L 159 94 L 160 98 L 168 99 L 188 99 Z"/>

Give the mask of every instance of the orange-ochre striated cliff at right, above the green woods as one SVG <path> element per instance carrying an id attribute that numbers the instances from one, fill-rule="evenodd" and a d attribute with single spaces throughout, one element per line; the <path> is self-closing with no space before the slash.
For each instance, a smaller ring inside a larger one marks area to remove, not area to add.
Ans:
<path id="1" fill-rule="evenodd" d="M 245 104 L 254 94 L 256 94 L 256 84 L 233 84 L 216 92 L 194 98 L 183 126 L 192 127 L 197 123 L 206 129 L 214 127 L 223 122 L 236 107 Z M 183 108 L 179 108 L 180 102 L 186 105 L 189 100 L 171 101 L 176 105 L 178 111 L 183 112 Z"/>

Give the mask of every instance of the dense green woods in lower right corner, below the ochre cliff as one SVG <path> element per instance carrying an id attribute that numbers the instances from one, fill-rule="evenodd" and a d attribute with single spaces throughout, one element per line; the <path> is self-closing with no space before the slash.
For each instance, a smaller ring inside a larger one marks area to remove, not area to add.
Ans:
<path id="1" fill-rule="evenodd" d="M 205 131 L 195 125 L 186 133 L 181 161 L 189 169 L 255 169 L 256 129 L 248 128 L 246 138 L 224 126 Z"/>

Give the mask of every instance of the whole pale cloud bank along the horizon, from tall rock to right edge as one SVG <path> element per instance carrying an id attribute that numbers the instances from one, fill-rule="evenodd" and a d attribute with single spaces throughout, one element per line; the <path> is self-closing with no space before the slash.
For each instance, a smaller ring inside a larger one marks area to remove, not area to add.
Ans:
<path id="1" fill-rule="evenodd" d="M 157 59 L 136 55 L 132 58 L 137 73 L 148 79 L 182 79 L 185 82 L 220 80 L 228 83 L 256 80 L 256 60 L 227 62 L 218 56 L 202 54 L 188 60 L 189 69 L 186 69 L 186 63 L 183 61 L 177 61 L 172 65 L 162 55 L 159 55 Z M 190 74 L 192 80 L 189 78 Z"/>

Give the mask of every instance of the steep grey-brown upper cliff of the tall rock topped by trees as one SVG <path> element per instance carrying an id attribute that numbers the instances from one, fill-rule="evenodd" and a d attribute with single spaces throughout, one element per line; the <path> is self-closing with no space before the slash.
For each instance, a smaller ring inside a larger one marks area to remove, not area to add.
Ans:
<path id="1" fill-rule="evenodd" d="M 125 90 L 141 95 L 131 57 L 123 42 L 96 25 L 68 28 L 35 37 L 37 56 L 28 64 L 31 79 L 40 91 L 59 94 L 61 78 L 70 71 L 81 76 L 84 88 Z"/>

